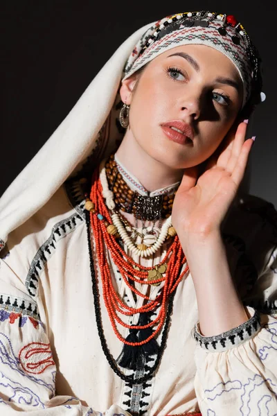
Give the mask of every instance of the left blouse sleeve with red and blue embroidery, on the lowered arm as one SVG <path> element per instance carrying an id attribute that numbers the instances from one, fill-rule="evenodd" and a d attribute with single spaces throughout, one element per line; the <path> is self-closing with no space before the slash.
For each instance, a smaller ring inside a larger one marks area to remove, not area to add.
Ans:
<path id="1" fill-rule="evenodd" d="M 82 406 L 76 397 L 55 395 L 55 374 L 55 362 L 37 304 L 19 275 L 0 259 L 0 414 L 102 415 Z M 129 415 L 117 405 L 105 411 L 106 416 L 115 414 Z"/>

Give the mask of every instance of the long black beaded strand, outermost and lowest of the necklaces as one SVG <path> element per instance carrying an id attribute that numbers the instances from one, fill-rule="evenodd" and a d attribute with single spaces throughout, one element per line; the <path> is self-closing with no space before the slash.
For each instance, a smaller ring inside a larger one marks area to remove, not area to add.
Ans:
<path id="1" fill-rule="evenodd" d="M 164 329 L 163 329 L 163 333 L 162 333 L 162 336 L 161 336 L 161 345 L 159 347 L 159 352 L 157 354 L 156 362 L 154 363 L 154 366 L 152 367 L 152 371 L 149 372 L 148 374 L 145 374 L 145 376 L 140 377 L 139 379 L 135 379 L 134 376 L 126 376 L 125 374 L 120 372 L 120 370 L 118 369 L 118 367 L 116 365 L 116 361 L 111 356 L 111 353 L 109 352 L 109 349 L 107 347 L 107 341 L 106 341 L 104 331 L 103 331 L 103 328 L 102 328 L 99 292 L 98 292 L 98 287 L 97 287 L 97 279 L 96 279 L 96 274 L 95 274 L 95 270 L 94 270 L 94 263 L 93 263 L 92 250 L 91 250 L 90 214 L 89 214 L 89 212 L 86 212 L 85 214 L 86 214 L 86 224 L 87 224 L 87 239 L 88 239 L 88 245 L 89 245 L 89 265 L 90 265 L 90 269 L 91 269 L 93 301 L 94 301 L 94 308 L 95 308 L 95 313 L 96 313 L 96 324 L 97 324 L 97 329 L 98 329 L 98 335 L 99 335 L 99 338 L 100 338 L 100 343 L 101 343 L 101 346 L 102 346 L 102 350 L 103 350 L 103 352 L 104 352 L 104 354 L 107 358 L 107 361 L 108 361 L 111 369 L 118 375 L 118 377 L 120 377 L 120 379 L 122 379 L 126 383 L 130 383 L 131 385 L 145 383 L 146 381 L 148 381 L 152 378 L 152 375 L 157 370 L 157 367 L 159 366 L 159 363 L 161 362 L 161 357 L 163 356 L 164 349 L 166 348 L 166 340 L 168 338 L 169 324 L 170 324 L 170 320 L 171 320 L 170 317 L 171 317 L 171 314 L 172 314 L 173 299 L 174 299 L 176 289 L 175 289 L 175 291 L 172 292 L 172 294 L 169 297 L 168 312 L 167 312 L 167 315 L 166 315 L 166 322 L 164 324 Z"/>

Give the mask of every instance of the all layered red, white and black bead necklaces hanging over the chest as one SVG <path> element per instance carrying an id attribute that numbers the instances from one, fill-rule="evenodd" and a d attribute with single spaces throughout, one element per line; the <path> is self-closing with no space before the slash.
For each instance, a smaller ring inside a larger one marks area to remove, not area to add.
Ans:
<path id="1" fill-rule="evenodd" d="M 110 158 L 110 160 L 112 160 L 112 158 Z M 188 272 L 188 265 L 181 271 L 186 263 L 186 257 L 181 248 L 181 244 L 179 243 L 175 229 L 171 225 L 170 209 L 164 209 L 163 211 L 166 212 L 166 215 L 169 214 L 169 216 L 166 218 L 156 243 L 150 248 L 147 248 L 147 246 L 137 247 L 132 242 L 125 229 L 123 218 L 116 210 L 116 205 L 125 204 L 126 198 L 121 198 L 120 200 L 120 198 L 118 199 L 117 197 L 118 202 L 116 202 L 116 200 L 114 200 L 114 191 L 111 190 L 111 186 L 118 180 L 118 175 L 113 176 L 113 184 L 111 184 L 109 180 L 111 180 L 109 172 L 105 172 L 105 165 L 102 163 L 95 171 L 93 171 L 90 193 L 85 193 L 87 199 L 85 208 L 87 209 L 87 232 L 96 323 L 102 349 L 111 368 L 121 379 L 129 383 L 138 384 L 144 383 L 150 379 L 159 365 L 163 349 L 166 346 L 173 296 L 179 282 L 183 279 L 186 272 Z M 119 180 L 123 180 L 123 177 L 119 177 Z M 86 181 L 82 180 L 81 182 L 84 184 Z M 128 193 L 129 189 L 127 189 L 126 182 L 124 184 L 123 182 L 120 182 L 120 184 L 123 185 L 123 187 L 126 185 L 124 187 L 125 193 L 130 195 L 130 193 Z M 121 189 L 123 188 L 121 187 Z M 137 201 L 135 193 L 132 198 L 132 200 Z M 127 204 L 131 206 L 129 200 L 127 200 Z M 132 204 L 132 209 L 134 209 L 134 207 L 137 207 L 136 203 Z M 136 210 L 136 212 L 139 211 L 141 219 L 147 219 L 149 218 L 149 212 L 151 210 L 153 213 L 156 211 L 156 208 L 145 209 L 143 212 L 147 214 L 143 214 L 142 210 Z M 160 213 L 161 212 L 162 209 L 160 209 Z M 156 220 L 160 219 L 157 215 L 155 218 Z M 169 230 L 171 234 L 168 233 Z M 98 281 L 94 272 L 91 252 L 91 232 L 93 233 L 96 245 L 96 256 L 102 282 L 102 295 L 109 315 L 109 320 L 118 340 L 123 343 L 123 351 L 117 360 L 114 360 L 109 353 L 102 329 Z M 172 241 L 169 244 L 166 255 L 161 262 L 154 267 L 146 267 L 136 263 L 132 257 L 127 255 L 120 245 L 120 240 L 122 240 L 132 253 L 139 255 L 139 257 L 149 257 L 157 252 L 167 238 L 170 238 Z M 112 261 L 114 261 L 116 268 L 118 268 L 127 288 L 132 291 L 134 297 L 143 298 L 142 306 L 138 308 L 130 307 L 118 295 L 112 282 L 106 250 L 108 250 L 109 256 Z M 161 287 L 154 300 L 151 299 L 150 295 L 142 293 L 136 288 L 136 286 L 138 286 L 137 284 L 143 286 L 148 285 L 148 287 L 150 287 L 150 285 L 161 285 L 162 282 L 163 287 Z M 150 317 L 153 313 L 157 313 L 157 317 L 151 320 Z M 123 317 L 123 315 L 134 317 L 136 314 L 139 314 L 137 324 L 127 324 L 120 318 L 120 316 Z M 121 335 L 119 330 L 120 327 L 129 329 L 127 338 L 123 338 Z M 161 331 L 161 345 L 158 345 L 157 336 L 159 336 Z M 129 370 L 137 370 L 143 366 L 143 363 L 145 363 L 145 356 L 147 355 L 157 355 L 157 359 L 151 371 L 139 379 L 134 378 L 134 376 L 126 376 L 118 368 L 118 365 L 120 365 L 120 367 L 125 367 Z"/>

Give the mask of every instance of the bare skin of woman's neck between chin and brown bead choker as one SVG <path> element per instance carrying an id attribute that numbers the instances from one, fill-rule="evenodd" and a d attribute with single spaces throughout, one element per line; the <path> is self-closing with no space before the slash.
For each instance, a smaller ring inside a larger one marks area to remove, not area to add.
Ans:
<path id="1" fill-rule="evenodd" d="M 184 169 L 172 169 L 154 159 L 143 150 L 133 135 L 128 133 L 129 130 L 116 150 L 116 157 L 145 189 L 152 192 L 181 181 Z"/>

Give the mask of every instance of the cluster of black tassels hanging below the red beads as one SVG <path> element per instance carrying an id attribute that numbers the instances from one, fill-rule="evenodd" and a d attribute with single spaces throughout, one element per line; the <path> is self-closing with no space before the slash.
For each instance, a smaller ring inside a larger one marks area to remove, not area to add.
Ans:
<path id="1" fill-rule="evenodd" d="M 137 325 L 143 326 L 147 325 L 149 322 L 150 315 L 149 313 L 145 312 L 140 314 L 139 322 Z M 142 330 L 130 329 L 126 341 L 129 343 L 140 343 L 141 341 L 146 340 L 150 335 L 152 335 L 152 333 L 152 328 L 145 328 Z M 129 370 L 140 370 L 143 368 L 145 363 L 145 356 L 155 355 L 158 354 L 158 352 L 159 345 L 157 340 L 152 338 L 150 341 L 148 341 L 148 343 L 135 347 L 124 344 L 123 350 L 116 361 L 120 367 L 128 368 Z"/>

